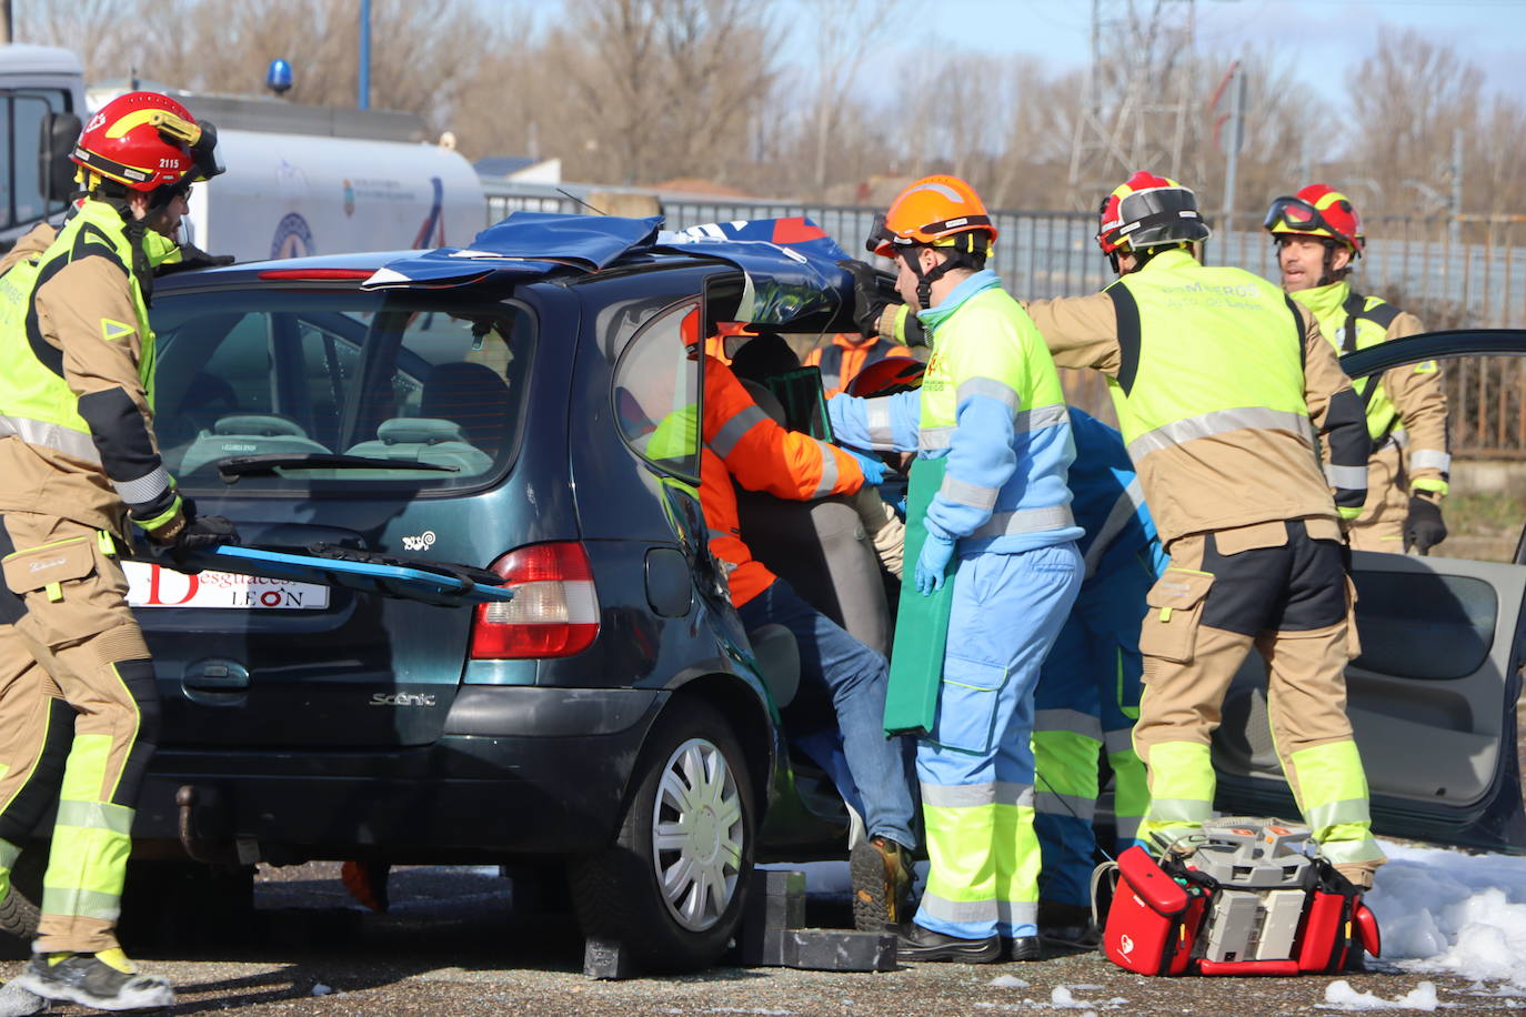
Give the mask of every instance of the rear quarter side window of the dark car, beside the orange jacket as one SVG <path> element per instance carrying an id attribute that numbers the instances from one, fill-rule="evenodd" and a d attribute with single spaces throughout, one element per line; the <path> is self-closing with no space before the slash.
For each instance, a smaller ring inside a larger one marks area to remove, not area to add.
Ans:
<path id="1" fill-rule="evenodd" d="M 626 444 L 661 473 L 699 482 L 699 364 L 684 345 L 699 302 L 658 311 L 615 364 L 613 413 Z"/>

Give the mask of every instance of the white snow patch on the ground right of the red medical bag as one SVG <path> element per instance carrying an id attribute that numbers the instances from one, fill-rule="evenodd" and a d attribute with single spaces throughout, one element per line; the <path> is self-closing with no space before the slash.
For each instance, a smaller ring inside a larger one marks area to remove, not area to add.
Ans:
<path id="1" fill-rule="evenodd" d="M 1383 958 L 1526 988 L 1526 858 L 1384 843 L 1367 906 Z"/>

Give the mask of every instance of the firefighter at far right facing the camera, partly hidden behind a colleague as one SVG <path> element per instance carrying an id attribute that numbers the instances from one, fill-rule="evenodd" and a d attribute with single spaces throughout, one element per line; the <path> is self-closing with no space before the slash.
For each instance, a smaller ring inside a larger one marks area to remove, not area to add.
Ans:
<path id="1" fill-rule="evenodd" d="M 1265 226 L 1277 244 L 1282 288 L 1314 314 L 1338 352 L 1424 331 L 1413 314 L 1351 288 L 1347 276 L 1367 238 L 1361 217 L 1340 191 L 1314 183 L 1277 198 Z M 1351 528 L 1351 546 L 1390 552 L 1413 547 L 1424 555 L 1447 538 L 1441 502 L 1447 497 L 1451 454 L 1441 371 L 1427 360 L 1352 384 L 1366 404 L 1372 457 L 1367 505 Z"/>

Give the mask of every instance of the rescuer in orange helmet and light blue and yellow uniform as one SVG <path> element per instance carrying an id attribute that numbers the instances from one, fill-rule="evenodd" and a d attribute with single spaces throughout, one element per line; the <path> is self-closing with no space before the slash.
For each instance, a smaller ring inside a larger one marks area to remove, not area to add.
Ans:
<path id="1" fill-rule="evenodd" d="M 896 287 L 932 337 L 919 392 L 830 399 L 838 441 L 919 451 L 942 471 L 914 582 L 952 608 L 937 715 L 917 744 L 928 831 L 926 892 L 899 956 L 986 964 L 1039 956 L 1033 833 L 1033 686 L 1080 585 L 1082 531 L 1065 470 L 1074 448 L 1059 377 L 1022 308 L 986 268 L 996 229 L 966 181 L 926 177 L 876 227 Z M 926 476 L 926 474 L 923 474 Z M 897 639 L 908 625 L 906 599 Z"/>

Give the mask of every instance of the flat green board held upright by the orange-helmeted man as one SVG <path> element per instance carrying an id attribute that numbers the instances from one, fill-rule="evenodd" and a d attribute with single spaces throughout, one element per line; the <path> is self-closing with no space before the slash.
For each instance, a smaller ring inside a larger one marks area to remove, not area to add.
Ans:
<path id="1" fill-rule="evenodd" d="M 887 735 L 926 735 L 938 711 L 943 680 L 943 646 L 954 607 L 954 579 L 932 596 L 917 592 L 916 567 L 928 531 L 922 525 L 932 496 L 943 486 L 943 459 L 917 459 L 906 491 L 906 549 L 902 561 L 900 607 L 896 611 L 896 643 L 890 651 L 890 688 L 885 694 Z M 958 567 L 958 558 L 951 563 Z"/>

